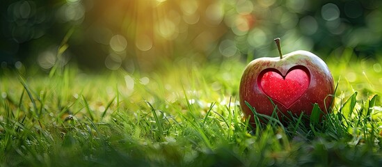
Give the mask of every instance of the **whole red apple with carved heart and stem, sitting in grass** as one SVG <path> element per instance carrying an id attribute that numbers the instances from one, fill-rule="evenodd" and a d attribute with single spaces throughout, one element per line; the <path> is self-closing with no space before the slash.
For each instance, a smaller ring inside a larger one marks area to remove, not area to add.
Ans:
<path id="1" fill-rule="evenodd" d="M 241 77 L 239 100 L 244 116 L 253 112 L 271 116 L 274 104 L 289 116 L 304 112 L 310 116 L 315 103 L 321 111 L 328 112 L 334 93 L 334 82 L 328 66 L 309 51 L 293 51 L 282 56 L 280 38 L 275 39 L 280 57 L 264 57 L 251 61 Z M 280 116 L 280 113 L 279 113 Z"/>

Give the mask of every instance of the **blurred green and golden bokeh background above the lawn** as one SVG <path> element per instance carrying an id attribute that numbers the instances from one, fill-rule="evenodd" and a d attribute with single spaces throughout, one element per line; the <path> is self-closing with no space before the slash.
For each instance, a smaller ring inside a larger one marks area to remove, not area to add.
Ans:
<path id="1" fill-rule="evenodd" d="M 277 56 L 276 37 L 285 53 L 341 58 L 335 53 L 351 49 L 380 59 L 381 6 L 377 0 L 3 0 L 0 63 L 152 71 L 165 62 Z M 381 64 L 374 68 L 381 72 Z"/>

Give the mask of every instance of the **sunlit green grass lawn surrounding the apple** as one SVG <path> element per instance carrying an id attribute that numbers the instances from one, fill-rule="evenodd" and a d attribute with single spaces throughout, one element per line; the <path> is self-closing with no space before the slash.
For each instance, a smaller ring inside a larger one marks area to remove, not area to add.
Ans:
<path id="1" fill-rule="evenodd" d="M 335 56 L 333 113 L 254 129 L 238 103 L 237 58 L 135 74 L 2 69 L 0 166 L 381 166 L 382 76 Z"/>

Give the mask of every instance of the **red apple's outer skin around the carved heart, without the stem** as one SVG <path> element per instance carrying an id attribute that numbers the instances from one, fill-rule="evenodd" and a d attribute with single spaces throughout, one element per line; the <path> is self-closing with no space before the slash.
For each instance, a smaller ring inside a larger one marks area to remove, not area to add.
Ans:
<path id="1" fill-rule="evenodd" d="M 295 67 L 303 68 L 303 70 L 308 73 L 310 82 L 305 93 L 301 93 L 301 97 L 292 104 L 289 104 L 288 107 L 285 106 L 285 103 L 282 104 L 281 102 L 278 102 L 278 100 L 274 100 L 272 97 L 269 97 L 264 93 L 261 88 L 259 77 L 266 71 L 276 70 L 285 78 L 290 69 Z M 251 61 L 241 77 L 239 101 L 245 118 L 250 116 L 250 122 L 253 123 L 253 113 L 245 102 L 248 102 L 250 106 L 253 106 L 257 113 L 271 116 L 274 109 L 271 100 L 269 100 L 269 98 L 271 98 L 273 103 L 277 105 L 278 109 L 280 109 L 285 116 L 289 116 L 287 111 L 291 111 L 297 116 L 299 116 L 301 112 L 310 116 L 313 104 L 315 103 L 319 105 L 321 111 L 327 113 L 329 108 L 333 107 L 330 106 L 331 104 L 333 105 L 333 93 L 333 77 L 326 63 L 309 51 L 299 50 L 285 54 L 282 58 L 264 57 Z M 278 116 L 280 116 L 280 113 L 278 113 Z"/>

